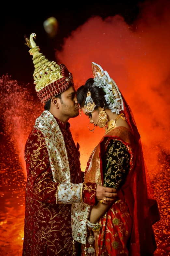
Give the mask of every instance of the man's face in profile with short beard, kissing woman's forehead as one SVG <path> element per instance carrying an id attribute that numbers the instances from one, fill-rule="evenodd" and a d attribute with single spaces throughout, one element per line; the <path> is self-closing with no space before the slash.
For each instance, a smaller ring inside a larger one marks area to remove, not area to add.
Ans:
<path id="1" fill-rule="evenodd" d="M 79 105 L 75 88 L 70 86 L 61 94 L 61 98 L 61 114 L 69 118 L 77 117 L 79 115 Z"/>

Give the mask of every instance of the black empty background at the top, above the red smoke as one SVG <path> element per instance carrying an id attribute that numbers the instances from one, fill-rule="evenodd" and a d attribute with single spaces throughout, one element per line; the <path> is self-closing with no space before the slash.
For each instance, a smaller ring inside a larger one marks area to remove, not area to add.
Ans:
<path id="1" fill-rule="evenodd" d="M 64 38 L 92 16 L 102 18 L 120 14 L 131 25 L 142 8 L 144 1 L 33 1 L 20 3 L 3 3 L 1 6 L 1 40 L 0 76 L 10 75 L 19 82 L 32 82 L 34 71 L 29 48 L 25 44 L 24 35 L 38 35 L 37 45 L 41 52 L 51 61 L 55 49 L 60 50 Z M 55 17 L 59 24 L 58 33 L 50 38 L 43 27 L 43 22 L 49 17 Z M 39 43 L 39 44 L 38 44 Z M 57 60 L 56 60 L 57 61 Z"/>

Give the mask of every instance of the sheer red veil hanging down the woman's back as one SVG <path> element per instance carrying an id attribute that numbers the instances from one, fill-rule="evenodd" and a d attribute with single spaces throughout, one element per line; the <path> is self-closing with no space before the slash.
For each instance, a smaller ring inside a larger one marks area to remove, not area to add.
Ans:
<path id="1" fill-rule="evenodd" d="M 122 97 L 123 98 L 123 97 Z M 156 241 L 152 225 L 160 220 L 160 214 L 157 202 L 155 200 L 152 184 L 149 179 L 147 167 L 145 165 L 141 139 L 137 130 L 132 111 L 123 98 L 123 113 L 130 125 L 136 145 L 135 166 L 131 180 L 127 180 L 122 187 L 125 201 L 131 212 L 134 225 L 130 241 L 130 255 L 152 255 L 156 249 Z M 127 186 L 127 184 L 130 184 Z M 132 203 L 132 193 L 134 203 Z"/>

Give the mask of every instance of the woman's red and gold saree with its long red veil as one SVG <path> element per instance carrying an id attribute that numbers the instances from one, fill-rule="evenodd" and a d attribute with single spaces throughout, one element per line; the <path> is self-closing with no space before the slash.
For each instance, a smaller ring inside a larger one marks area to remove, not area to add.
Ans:
<path id="1" fill-rule="evenodd" d="M 100 219 L 100 231 L 93 233 L 96 256 L 149 256 L 156 249 L 152 225 L 160 219 L 159 210 L 145 166 L 140 135 L 129 106 L 124 99 L 123 102 L 123 113 L 131 130 L 116 127 L 107 133 L 93 150 L 84 175 L 85 182 L 103 185 L 104 141 L 112 138 L 126 145 L 131 155 L 129 173 L 118 191 L 119 200 Z"/>

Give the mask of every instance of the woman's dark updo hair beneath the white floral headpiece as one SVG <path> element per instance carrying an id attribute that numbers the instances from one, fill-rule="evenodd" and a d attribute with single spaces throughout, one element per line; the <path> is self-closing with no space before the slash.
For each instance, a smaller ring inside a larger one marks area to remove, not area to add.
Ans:
<path id="1" fill-rule="evenodd" d="M 78 104 L 81 107 L 84 107 L 84 103 L 85 103 L 86 97 L 87 97 L 87 92 L 89 90 L 91 93 L 91 98 L 96 105 L 95 109 L 97 109 L 98 107 L 103 108 L 104 101 L 105 101 L 105 108 L 108 108 L 109 104 L 106 103 L 106 100 L 105 100 L 106 93 L 104 92 L 104 90 L 102 88 L 99 88 L 97 86 L 92 87 L 93 83 L 94 83 L 93 78 L 89 78 L 86 81 L 85 85 L 81 85 L 78 88 L 77 93 L 76 93 Z"/>

